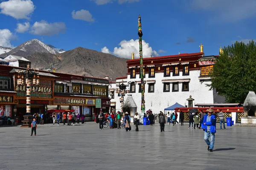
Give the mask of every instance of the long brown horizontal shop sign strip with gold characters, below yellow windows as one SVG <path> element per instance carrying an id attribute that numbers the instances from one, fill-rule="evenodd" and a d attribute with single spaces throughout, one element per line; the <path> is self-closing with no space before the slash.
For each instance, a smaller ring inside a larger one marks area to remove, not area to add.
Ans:
<path id="1" fill-rule="evenodd" d="M 53 102 L 57 105 L 95 105 L 95 99 L 54 98 Z"/>

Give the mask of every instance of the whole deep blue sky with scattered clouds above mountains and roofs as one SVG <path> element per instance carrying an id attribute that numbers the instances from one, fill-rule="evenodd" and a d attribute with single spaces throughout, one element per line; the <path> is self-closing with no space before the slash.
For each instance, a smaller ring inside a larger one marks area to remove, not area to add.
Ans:
<path id="1" fill-rule="evenodd" d="M 144 57 L 200 52 L 200 43 L 218 55 L 255 39 L 255 8 L 255 0 L 0 0 L 0 46 L 38 39 L 137 58 L 140 14 Z"/>

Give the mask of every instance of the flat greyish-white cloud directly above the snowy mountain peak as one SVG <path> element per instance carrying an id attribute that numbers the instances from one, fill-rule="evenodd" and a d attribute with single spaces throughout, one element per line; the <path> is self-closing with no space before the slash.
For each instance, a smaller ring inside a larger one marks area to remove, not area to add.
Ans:
<path id="1" fill-rule="evenodd" d="M 65 23 L 48 23 L 47 21 L 41 20 L 34 23 L 30 33 L 35 35 L 51 36 L 59 33 L 65 33 L 65 31 Z"/>

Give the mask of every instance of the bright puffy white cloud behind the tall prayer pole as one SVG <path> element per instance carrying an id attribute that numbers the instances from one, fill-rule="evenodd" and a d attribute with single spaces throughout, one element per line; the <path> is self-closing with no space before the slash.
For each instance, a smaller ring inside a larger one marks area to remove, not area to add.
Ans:
<path id="1" fill-rule="evenodd" d="M 131 59 L 131 53 L 134 52 L 134 58 L 140 58 L 139 53 L 139 40 L 122 40 L 119 43 L 120 47 L 115 47 L 114 51 L 111 52 L 107 47 L 102 48 L 102 52 L 113 54 L 117 57 Z M 148 43 L 142 40 L 143 57 L 156 57 L 159 56 L 157 51 L 152 50 Z"/>

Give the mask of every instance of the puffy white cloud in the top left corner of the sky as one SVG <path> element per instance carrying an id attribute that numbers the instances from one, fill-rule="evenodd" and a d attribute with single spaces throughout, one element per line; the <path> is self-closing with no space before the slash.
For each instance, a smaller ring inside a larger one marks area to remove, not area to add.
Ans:
<path id="1" fill-rule="evenodd" d="M 35 10 L 31 0 L 9 0 L 0 3 L 0 13 L 18 19 L 29 19 L 30 14 Z"/>

